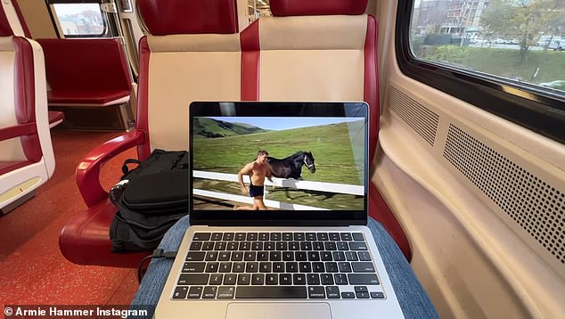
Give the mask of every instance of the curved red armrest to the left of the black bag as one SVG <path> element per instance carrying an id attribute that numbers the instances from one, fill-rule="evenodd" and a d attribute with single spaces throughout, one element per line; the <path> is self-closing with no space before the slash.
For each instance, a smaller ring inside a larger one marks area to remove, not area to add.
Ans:
<path id="1" fill-rule="evenodd" d="M 78 163 L 76 172 L 78 190 L 89 208 L 108 197 L 108 192 L 104 191 L 100 184 L 102 164 L 120 152 L 143 143 L 143 139 L 143 132 L 139 130 L 120 135 L 88 152 Z"/>

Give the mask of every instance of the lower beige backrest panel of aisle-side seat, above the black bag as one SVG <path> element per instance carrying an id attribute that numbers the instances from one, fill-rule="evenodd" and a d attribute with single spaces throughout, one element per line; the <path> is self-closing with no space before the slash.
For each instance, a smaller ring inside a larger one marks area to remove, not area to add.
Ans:
<path id="1" fill-rule="evenodd" d="M 188 150 L 191 102 L 240 101 L 240 63 L 239 52 L 151 53 L 151 150 Z"/>

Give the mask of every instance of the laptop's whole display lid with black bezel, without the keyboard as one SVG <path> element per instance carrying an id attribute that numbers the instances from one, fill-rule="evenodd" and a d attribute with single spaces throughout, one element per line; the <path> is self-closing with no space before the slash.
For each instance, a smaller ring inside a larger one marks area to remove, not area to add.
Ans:
<path id="1" fill-rule="evenodd" d="M 192 103 L 192 219 L 363 221 L 367 113 L 359 102 Z"/>

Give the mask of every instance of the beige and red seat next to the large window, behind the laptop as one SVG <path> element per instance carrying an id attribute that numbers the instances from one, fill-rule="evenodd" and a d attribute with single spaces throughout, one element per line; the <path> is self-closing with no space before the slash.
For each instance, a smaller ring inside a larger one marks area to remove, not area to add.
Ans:
<path id="1" fill-rule="evenodd" d="M 249 74 L 258 74 L 258 86 L 248 97 L 259 101 L 367 102 L 373 162 L 380 118 L 377 23 L 373 15 L 364 14 L 367 3 L 271 0 L 273 17 L 261 17 L 242 32 L 242 38 L 248 39 L 242 50 L 244 54 L 253 47 L 260 50 L 243 66 Z M 405 233 L 373 183 L 370 214 L 410 260 Z"/>

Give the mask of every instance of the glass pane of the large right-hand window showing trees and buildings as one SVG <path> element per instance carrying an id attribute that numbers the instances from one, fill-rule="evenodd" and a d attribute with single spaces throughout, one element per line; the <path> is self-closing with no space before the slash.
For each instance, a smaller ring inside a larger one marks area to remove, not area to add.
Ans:
<path id="1" fill-rule="evenodd" d="M 560 4 L 561 3 L 561 4 Z M 418 59 L 565 92 L 565 2 L 415 1 Z"/>

